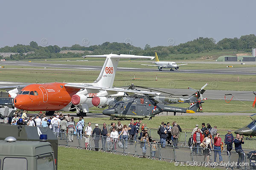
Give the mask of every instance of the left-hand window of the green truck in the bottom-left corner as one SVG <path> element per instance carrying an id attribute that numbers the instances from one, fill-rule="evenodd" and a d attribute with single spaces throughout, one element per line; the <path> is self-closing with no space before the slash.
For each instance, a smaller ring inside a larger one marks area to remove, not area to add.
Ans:
<path id="1" fill-rule="evenodd" d="M 27 160 L 26 158 L 4 158 L 3 170 L 27 170 Z"/>

